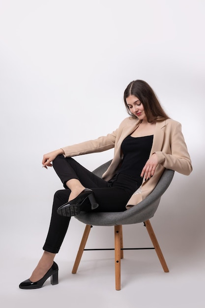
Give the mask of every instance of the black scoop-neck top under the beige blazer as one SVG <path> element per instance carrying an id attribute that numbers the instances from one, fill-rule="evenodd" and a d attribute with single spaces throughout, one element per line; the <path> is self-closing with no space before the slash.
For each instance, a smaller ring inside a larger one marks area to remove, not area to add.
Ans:
<path id="1" fill-rule="evenodd" d="M 138 180 L 149 158 L 152 142 L 153 135 L 144 137 L 127 136 L 121 144 L 123 159 L 118 172 Z"/>

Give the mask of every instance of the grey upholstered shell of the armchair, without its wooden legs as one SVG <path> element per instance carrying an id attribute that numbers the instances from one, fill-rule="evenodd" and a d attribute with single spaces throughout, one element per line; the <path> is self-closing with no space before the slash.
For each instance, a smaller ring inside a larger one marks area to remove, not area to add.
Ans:
<path id="1" fill-rule="evenodd" d="M 96 168 L 93 173 L 99 177 L 107 170 L 112 160 L 104 163 Z M 161 196 L 167 190 L 172 182 L 174 171 L 165 169 L 159 182 L 154 190 L 140 203 L 134 205 L 124 212 L 81 212 L 76 218 L 86 224 L 98 225 L 98 226 L 112 226 L 120 224 L 133 224 L 146 221 L 154 216 L 156 212 Z"/>

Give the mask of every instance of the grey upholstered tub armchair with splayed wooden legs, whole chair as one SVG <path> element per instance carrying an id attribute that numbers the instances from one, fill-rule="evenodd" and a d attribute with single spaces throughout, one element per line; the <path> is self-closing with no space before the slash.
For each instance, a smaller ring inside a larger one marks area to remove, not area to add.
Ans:
<path id="1" fill-rule="evenodd" d="M 107 170 L 111 160 L 99 166 L 97 169 L 93 171 L 94 174 L 99 177 Z M 75 216 L 79 221 L 86 224 L 86 228 L 83 234 L 83 238 L 76 256 L 76 260 L 73 266 L 72 273 L 76 274 L 78 270 L 78 266 L 81 261 L 81 257 L 86 246 L 86 242 L 88 240 L 88 235 L 90 232 L 90 228 L 92 226 L 114 226 L 115 227 L 115 278 L 116 278 L 116 290 L 121 289 L 120 282 L 120 259 L 123 258 L 123 240 L 122 240 L 122 225 L 124 224 L 135 224 L 144 222 L 146 226 L 146 230 L 149 234 L 153 247 L 150 249 L 155 249 L 159 261 L 162 265 L 164 272 L 169 272 L 166 261 L 152 229 L 149 219 L 154 216 L 161 196 L 166 191 L 170 183 L 172 182 L 174 176 L 174 171 L 165 169 L 162 174 L 158 184 L 154 188 L 154 190 L 138 205 L 130 208 L 124 212 L 111 212 L 111 213 L 86 213 L 81 212 L 78 216 Z M 132 248 L 129 248 L 132 249 Z M 137 249 L 137 248 L 134 248 Z M 146 248 L 147 249 L 147 248 Z M 88 249 L 95 250 L 95 249 Z M 100 250 L 100 249 L 98 249 Z M 105 249 L 102 249 L 105 250 Z"/>

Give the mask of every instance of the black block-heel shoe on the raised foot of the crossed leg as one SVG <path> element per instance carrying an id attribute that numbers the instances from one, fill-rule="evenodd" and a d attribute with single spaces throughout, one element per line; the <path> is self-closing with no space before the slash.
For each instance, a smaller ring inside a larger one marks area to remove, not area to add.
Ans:
<path id="1" fill-rule="evenodd" d="M 92 210 L 96 209 L 99 206 L 99 204 L 95 200 L 93 191 L 89 188 L 85 188 L 75 199 L 61 205 L 58 208 L 57 213 L 61 216 L 76 216 L 82 211 L 83 202 L 87 198 L 89 199 Z"/>

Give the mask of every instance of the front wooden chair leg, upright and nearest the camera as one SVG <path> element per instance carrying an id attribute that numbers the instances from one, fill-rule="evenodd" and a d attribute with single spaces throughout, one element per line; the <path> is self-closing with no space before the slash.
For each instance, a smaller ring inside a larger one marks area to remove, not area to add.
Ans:
<path id="1" fill-rule="evenodd" d="M 120 281 L 120 258 L 121 258 L 121 226 L 115 226 L 115 277 L 116 277 L 116 290 L 121 289 Z"/>

